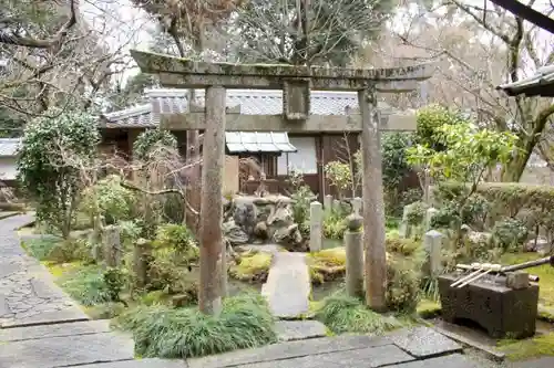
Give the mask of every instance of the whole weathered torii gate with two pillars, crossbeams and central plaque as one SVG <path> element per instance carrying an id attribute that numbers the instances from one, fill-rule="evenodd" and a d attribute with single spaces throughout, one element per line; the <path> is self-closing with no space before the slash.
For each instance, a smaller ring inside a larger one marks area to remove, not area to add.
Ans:
<path id="1" fill-rule="evenodd" d="M 223 244 L 223 168 L 225 130 L 361 132 L 366 298 L 375 311 L 386 308 L 387 260 L 377 93 L 410 92 L 432 75 L 432 64 L 399 69 L 328 69 L 271 64 L 195 62 L 170 55 L 131 51 L 143 73 L 157 74 L 165 87 L 205 88 L 205 111 L 171 119 L 166 128 L 204 129 L 201 200 L 199 308 L 220 308 Z M 283 116 L 235 118 L 226 114 L 226 88 L 283 90 Z M 360 114 L 347 119 L 310 117 L 310 91 L 356 91 Z M 229 129 L 227 129 L 229 130 Z"/>

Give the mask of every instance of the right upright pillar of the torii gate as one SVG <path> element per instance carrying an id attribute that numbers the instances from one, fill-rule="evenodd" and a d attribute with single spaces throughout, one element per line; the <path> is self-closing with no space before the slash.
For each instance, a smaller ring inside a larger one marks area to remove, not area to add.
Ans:
<path id="1" fill-rule="evenodd" d="M 386 309 L 387 255 L 384 248 L 384 203 L 381 172 L 381 139 L 377 92 L 370 85 L 358 92 L 362 130 L 363 249 L 366 252 L 366 302 L 375 311 Z"/>

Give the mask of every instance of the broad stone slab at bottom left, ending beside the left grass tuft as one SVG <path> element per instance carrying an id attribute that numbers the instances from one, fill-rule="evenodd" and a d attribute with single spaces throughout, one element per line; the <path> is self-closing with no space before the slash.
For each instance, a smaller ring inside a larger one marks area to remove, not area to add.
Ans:
<path id="1" fill-rule="evenodd" d="M 133 359 L 133 341 L 103 333 L 0 344 L 2 368 L 54 368 Z"/>

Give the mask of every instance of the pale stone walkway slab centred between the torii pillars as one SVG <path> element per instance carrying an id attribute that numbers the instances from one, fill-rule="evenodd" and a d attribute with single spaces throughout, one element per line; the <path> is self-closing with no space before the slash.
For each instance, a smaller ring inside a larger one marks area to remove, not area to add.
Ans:
<path id="1" fill-rule="evenodd" d="M 261 290 L 273 314 L 278 318 L 291 319 L 308 313 L 310 290 L 306 254 L 275 253 L 267 283 Z"/>

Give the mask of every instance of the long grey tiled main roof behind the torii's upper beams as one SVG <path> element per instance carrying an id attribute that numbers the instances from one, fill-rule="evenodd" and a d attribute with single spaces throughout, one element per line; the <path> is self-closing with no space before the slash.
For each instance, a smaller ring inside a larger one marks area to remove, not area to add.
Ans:
<path id="1" fill-rule="evenodd" d="M 161 114 L 186 113 L 188 90 L 147 90 L 146 98 L 151 104 L 140 105 L 122 112 L 103 115 L 109 128 L 116 127 L 155 127 Z M 196 91 L 196 105 L 204 106 L 204 90 Z M 347 108 L 358 108 L 358 96 L 352 92 L 311 92 L 311 114 L 346 115 Z M 240 106 L 244 115 L 283 114 L 283 92 L 266 90 L 228 90 L 227 107 Z M 379 103 L 379 107 L 390 111 L 390 106 Z"/>

